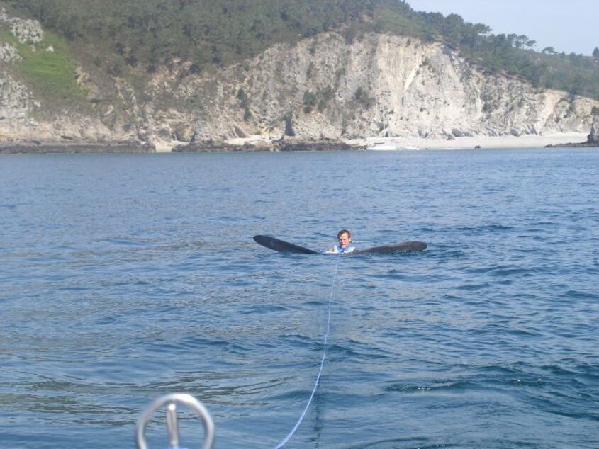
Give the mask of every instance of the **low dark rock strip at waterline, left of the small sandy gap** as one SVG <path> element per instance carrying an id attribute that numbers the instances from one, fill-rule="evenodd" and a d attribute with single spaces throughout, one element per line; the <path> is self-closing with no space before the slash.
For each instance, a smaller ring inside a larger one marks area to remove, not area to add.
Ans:
<path id="1" fill-rule="evenodd" d="M 49 153 L 155 153 L 151 144 L 138 142 L 4 142 L 0 143 L 0 154 L 49 154 Z"/>

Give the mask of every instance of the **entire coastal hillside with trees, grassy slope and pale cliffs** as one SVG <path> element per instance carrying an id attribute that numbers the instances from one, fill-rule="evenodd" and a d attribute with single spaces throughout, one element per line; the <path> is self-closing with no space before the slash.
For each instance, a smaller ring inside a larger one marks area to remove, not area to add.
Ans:
<path id="1" fill-rule="evenodd" d="M 534 135 L 599 112 L 593 58 L 526 36 L 396 1 L 246 3 L 0 1 L 0 140 Z"/>

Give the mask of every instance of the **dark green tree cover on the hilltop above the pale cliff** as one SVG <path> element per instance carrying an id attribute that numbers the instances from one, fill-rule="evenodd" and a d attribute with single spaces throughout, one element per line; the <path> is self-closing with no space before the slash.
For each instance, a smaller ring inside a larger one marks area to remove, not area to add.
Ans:
<path id="1" fill-rule="evenodd" d="M 337 30 L 346 42 L 364 33 L 443 42 L 488 73 L 599 98 L 597 55 L 559 54 L 552 47 L 535 52 L 536 42 L 525 35 L 492 35 L 486 25 L 413 11 L 400 0 L 0 0 L 3 5 L 60 33 L 112 76 L 139 77 L 175 59 L 190 61 L 189 71 L 201 73 L 276 42 Z M 311 108 L 318 105 L 308 100 Z"/>

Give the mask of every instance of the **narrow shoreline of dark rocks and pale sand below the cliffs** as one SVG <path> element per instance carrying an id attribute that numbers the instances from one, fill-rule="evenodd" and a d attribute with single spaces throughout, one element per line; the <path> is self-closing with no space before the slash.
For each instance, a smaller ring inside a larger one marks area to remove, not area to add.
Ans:
<path id="1" fill-rule="evenodd" d="M 374 144 L 387 149 L 379 151 L 415 151 L 416 149 L 542 149 L 544 147 L 571 147 L 582 144 L 588 134 L 563 132 L 551 135 L 523 136 L 471 136 L 443 138 L 421 137 L 365 137 L 349 140 L 302 140 L 298 137 L 269 140 L 263 136 L 232 139 L 225 142 L 155 142 L 140 145 L 133 142 L 0 142 L 0 154 L 52 154 L 52 153 L 161 153 L 174 152 L 279 152 L 279 151 L 364 151 Z M 396 147 L 396 149 L 388 149 Z M 373 150 L 368 150 L 373 151 Z"/>

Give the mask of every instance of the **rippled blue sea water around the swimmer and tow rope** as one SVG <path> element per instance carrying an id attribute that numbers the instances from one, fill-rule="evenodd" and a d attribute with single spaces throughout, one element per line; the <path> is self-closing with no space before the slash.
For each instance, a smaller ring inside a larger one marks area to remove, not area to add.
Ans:
<path id="1" fill-rule="evenodd" d="M 215 448 L 274 448 L 332 295 L 286 447 L 599 448 L 598 179 L 598 149 L 3 156 L 0 445 L 133 448 L 187 392 Z M 343 227 L 428 248 L 252 240 Z"/>

